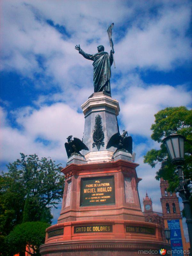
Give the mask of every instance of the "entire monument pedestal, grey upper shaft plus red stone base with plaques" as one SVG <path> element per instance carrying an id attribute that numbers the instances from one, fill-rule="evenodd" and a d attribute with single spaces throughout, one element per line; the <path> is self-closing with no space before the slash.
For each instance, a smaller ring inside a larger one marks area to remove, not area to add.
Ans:
<path id="1" fill-rule="evenodd" d="M 44 256 L 138 256 L 142 250 L 157 255 L 170 249 L 161 227 L 144 221 L 133 156 L 116 148 L 106 149 L 119 132 L 119 104 L 109 94 L 93 93 L 82 105 L 85 116 L 85 156 L 71 156 L 61 170 L 65 188 L 60 217 L 46 229 Z M 102 143 L 93 147 L 95 117 L 102 120 Z M 113 158 L 112 158 L 113 156 Z M 140 252 L 139 252 L 140 251 Z M 169 255 L 169 254 L 166 254 Z"/>

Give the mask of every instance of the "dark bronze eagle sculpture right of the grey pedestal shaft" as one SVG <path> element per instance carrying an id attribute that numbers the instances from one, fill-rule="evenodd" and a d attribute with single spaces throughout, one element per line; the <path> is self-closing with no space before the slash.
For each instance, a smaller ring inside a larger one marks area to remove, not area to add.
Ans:
<path id="1" fill-rule="evenodd" d="M 109 139 L 106 149 L 110 147 L 117 148 L 116 151 L 121 149 L 132 154 L 132 137 L 128 136 L 128 133 L 125 130 L 123 130 L 122 135 L 117 132 Z"/>

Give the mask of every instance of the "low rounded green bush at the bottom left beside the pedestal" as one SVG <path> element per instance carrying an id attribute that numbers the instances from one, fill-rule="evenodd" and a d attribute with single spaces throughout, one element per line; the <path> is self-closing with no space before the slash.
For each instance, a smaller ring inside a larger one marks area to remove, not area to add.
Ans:
<path id="1" fill-rule="evenodd" d="M 30 255 L 38 255 L 39 246 L 44 244 L 45 241 L 45 230 L 50 225 L 48 223 L 40 221 L 25 222 L 16 225 L 13 230 L 5 237 L 5 243 L 7 245 L 7 254 L 13 255 L 20 253 L 20 255 L 25 255 L 26 246 L 27 248 L 32 248 Z"/>

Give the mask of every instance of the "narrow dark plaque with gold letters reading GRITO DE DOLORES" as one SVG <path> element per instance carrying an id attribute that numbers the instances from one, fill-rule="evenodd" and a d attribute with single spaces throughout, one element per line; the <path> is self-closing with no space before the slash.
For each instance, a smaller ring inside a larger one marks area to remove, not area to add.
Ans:
<path id="1" fill-rule="evenodd" d="M 74 234 L 77 233 L 93 233 L 93 232 L 113 232 L 112 225 L 89 225 L 74 227 Z"/>

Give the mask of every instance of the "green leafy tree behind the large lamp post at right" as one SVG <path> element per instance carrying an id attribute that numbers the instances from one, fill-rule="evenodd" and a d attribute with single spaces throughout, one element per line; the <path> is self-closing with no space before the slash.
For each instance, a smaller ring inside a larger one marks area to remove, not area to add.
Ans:
<path id="1" fill-rule="evenodd" d="M 151 138 L 160 143 L 160 149 L 151 149 L 144 156 L 144 163 L 155 167 L 160 163 L 156 172 L 156 179 L 161 177 L 169 181 L 169 190 L 174 191 L 179 184 L 178 176 L 174 175 L 175 167 L 168 156 L 163 139 L 171 133 L 185 136 L 185 163 L 183 166 L 184 178 L 192 179 L 192 110 L 186 107 L 165 108 L 155 114 L 155 124 L 152 124 Z"/>

